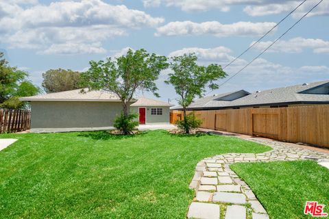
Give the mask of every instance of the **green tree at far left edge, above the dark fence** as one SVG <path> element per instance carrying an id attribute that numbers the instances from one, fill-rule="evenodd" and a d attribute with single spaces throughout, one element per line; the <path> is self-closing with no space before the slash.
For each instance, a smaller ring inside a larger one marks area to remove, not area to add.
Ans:
<path id="1" fill-rule="evenodd" d="M 0 107 L 19 109 L 27 107 L 26 103 L 19 101 L 21 96 L 33 96 L 40 92 L 28 79 L 29 74 L 16 67 L 9 66 L 0 53 Z"/>

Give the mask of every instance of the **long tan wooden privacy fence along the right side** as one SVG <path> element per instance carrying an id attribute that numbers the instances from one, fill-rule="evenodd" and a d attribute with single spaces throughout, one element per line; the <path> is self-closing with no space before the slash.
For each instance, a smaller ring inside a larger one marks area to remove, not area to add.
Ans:
<path id="1" fill-rule="evenodd" d="M 171 113 L 173 118 L 182 115 L 179 111 Z M 329 148 L 329 105 L 204 110 L 195 111 L 195 116 L 207 129 Z"/>

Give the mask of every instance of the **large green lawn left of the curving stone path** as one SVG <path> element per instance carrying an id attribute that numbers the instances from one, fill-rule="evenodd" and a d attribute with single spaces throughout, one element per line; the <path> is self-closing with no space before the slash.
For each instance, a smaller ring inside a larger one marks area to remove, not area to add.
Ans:
<path id="1" fill-rule="evenodd" d="M 3 134 L 0 218 L 185 218 L 201 159 L 263 153 L 224 136 L 106 132 Z"/>

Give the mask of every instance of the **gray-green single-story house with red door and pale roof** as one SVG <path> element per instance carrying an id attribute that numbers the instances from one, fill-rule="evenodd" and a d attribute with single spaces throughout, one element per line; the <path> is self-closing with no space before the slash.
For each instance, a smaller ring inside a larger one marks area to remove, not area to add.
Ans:
<path id="1" fill-rule="evenodd" d="M 116 94 L 105 91 L 81 92 L 81 89 L 22 97 L 31 104 L 31 131 L 88 131 L 113 129 L 114 118 L 122 111 Z M 133 99 L 131 112 L 139 114 L 139 123 L 169 124 L 166 102 Z"/>

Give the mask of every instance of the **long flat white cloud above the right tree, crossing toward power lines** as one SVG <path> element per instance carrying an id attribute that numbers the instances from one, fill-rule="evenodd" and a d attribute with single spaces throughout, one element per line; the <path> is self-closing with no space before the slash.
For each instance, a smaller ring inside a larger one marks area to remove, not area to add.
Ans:
<path id="1" fill-rule="evenodd" d="M 181 36 L 209 34 L 217 37 L 226 36 L 260 36 L 265 34 L 276 23 L 237 22 L 228 25 L 218 21 L 194 23 L 192 21 L 176 21 L 157 28 L 156 36 Z"/>

